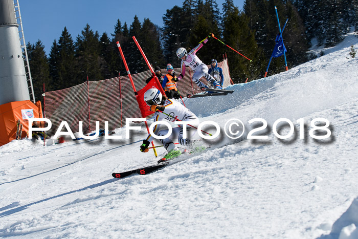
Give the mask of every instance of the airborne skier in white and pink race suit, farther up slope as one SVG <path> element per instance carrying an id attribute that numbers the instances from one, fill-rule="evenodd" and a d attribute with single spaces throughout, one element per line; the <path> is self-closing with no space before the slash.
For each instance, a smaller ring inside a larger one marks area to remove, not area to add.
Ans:
<path id="1" fill-rule="evenodd" d="M 213 84 L 215 89 L 222 89 L 220 83 L 217 82 L 210 74 L 208 74 L 209 69 L 207 65 L 203 63 L 203 61 L 200 60 L 199 57 L 196 56 L 197 51 L 202 48 L 204 44 L 206 44 L 206 42 L 208 42 L 208 38 L 206 38 L 203 43 L 200 43 L 194 49 L 192 49 L 189 54 L 187 53 L 187 50 L 185 50 L 185 48 L 183 47 L 176 50 L 177 57 L 182 59 L 182 73 L 178 76 L 178 79 L 181 80 L 185 76 L 185 67 L 188 66 L 194 71 L 192 80 L 200 88 L 208 88 L 207 85 L 205 85 L 199 80 L 204 76 L 208 81 Z"/>

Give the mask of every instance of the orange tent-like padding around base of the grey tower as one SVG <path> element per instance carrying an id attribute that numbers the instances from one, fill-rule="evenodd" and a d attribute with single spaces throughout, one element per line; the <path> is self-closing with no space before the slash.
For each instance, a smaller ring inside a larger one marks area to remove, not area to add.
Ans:
<path id="1" fill-rule="evenodd" d="M 29 131 L 28 118 L 43 118 L 40 101 L 36 104 L 24 100 L 0 105 L 0 146 L 15 139 L 17 120 L 23 124 L 20 138 L 26 137 Z"/>

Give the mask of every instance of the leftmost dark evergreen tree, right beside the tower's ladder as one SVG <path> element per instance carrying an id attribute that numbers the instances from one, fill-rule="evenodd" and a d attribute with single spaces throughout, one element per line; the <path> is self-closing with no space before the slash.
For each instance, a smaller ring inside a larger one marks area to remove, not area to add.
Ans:
<path id="1" fill-rule="evenodd" d="M 43 93 L 43 83 L 46 91 L 52 91 L 50 78 L 49 61 L 44 51 L 42 42 L 38 40 L 35 45 L 27 44 L 28 58 L 31 69 L 32 85 L 35 99 L 41 100 Z"/>

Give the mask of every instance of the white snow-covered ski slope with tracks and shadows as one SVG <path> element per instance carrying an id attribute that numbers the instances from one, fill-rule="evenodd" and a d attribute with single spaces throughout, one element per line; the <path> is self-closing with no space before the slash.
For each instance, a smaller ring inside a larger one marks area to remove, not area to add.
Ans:
<path id="1" fill-rule="evenodd" d="M 358 48 L 354 36 L 346 41 Z M 342 45 L 287 72 L 232 85 L 235 92 L 225 97 L 187 99 L 200 120 L 221 129 L 236 118 L 247 135 L 249 121 L 262 118 L 268 139 L 221 133 L 206 153 L 150 175 L 111 178 L 158 160 L 139 150 L 144 127 L 130 140 L 45 147 L 21 140 L 0 147 L 0 237 L 354 238 L 358 58 L 349 50 Z M 280 118 L 295 125 L 289 139 L 273 134 Z M 330 122 L 328 139 L 309 136 L 315 118 Z M 116 132 L 125 137 L 124 129 Z"/>

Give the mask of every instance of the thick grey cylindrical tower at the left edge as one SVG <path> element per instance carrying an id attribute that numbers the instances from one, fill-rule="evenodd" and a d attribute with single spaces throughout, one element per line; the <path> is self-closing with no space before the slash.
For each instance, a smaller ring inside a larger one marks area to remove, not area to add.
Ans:
<path id="1" fill-rule="evenodd" d="M 0 0 L 0 105 L 30 100 L 13 0 Z"/>

